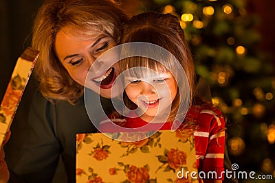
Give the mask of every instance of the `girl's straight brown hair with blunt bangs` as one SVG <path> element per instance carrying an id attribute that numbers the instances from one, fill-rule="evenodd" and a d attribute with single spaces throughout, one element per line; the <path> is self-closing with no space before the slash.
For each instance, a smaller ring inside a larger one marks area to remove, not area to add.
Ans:
<path id="1" fill-rule="evenodd" d="M 184 31 L 179 25 L 179 19 L 171 14 L 159 14 L 157 12 L 146 12 L 133 16 L 133 18 L 122 27 L 122 41 L 126 42 L 149 42 L 159 47 L 162 47 L 169 51 L 177 61 L 180 63 L 186 73 L 186 77 L 190 89 L 190 103 L 191 106 L 192 97 L 194 95 L 195 88 L 195 69 L 192 60 L 192 54 L 188 47 L 188 44 L 184 38 Z M 149 51 L 150 52 L 150 51 Z M 154 54 L 152 52 L 152 54 Z M 162 59 L 163 62 L 157 62 L 150 58 L 144 57 L 132 57 L 125 58 L 120 62 L 120 68 L 122 71 L 127 69 L 142 66 L 157 71 L 159 73 L 171 71 L 175 68 L 175 60 L 171 57 Z M 173 68 L 174 67 L 174 68 Z M 131 74 L 142 77 L 142 70 L 133 70 Z M 144 70 L 143 70 L 144 71 Z M 171 72 L 173 73 L 173 72 Z M 174 75 L 177 82 L 182 81 L 184 75 L 176 73 Z M 178 85 L 179 86 L 179 85 Z M 172 103 L 172 108 L 168 120 L 174 120 L 177 113 L 179 112 L 179 90 L 185 90 L 186 88 L 179 88 L 177 95 Z M 181 96 L 182 97 L 182 96 Z M 127 108 L 133 110 L 137 106 L 124 93 L 124 103 Z M 186 114 L 186 113 L 185 113 Z"/>

